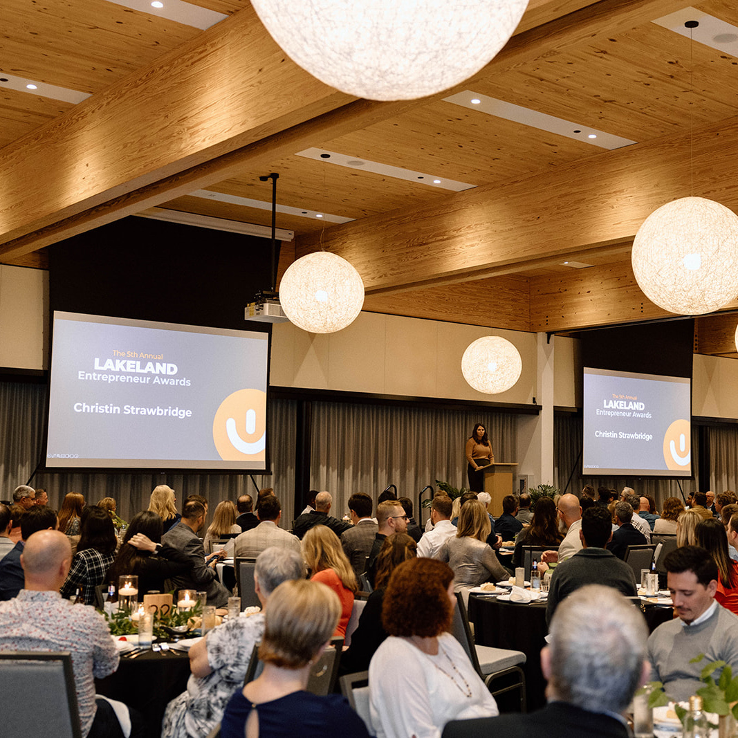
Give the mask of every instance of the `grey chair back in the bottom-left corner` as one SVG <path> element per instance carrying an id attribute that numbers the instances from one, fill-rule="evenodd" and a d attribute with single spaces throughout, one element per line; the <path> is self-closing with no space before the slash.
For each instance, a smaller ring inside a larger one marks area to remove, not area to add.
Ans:
<path id="1" fill-rule="evenodd" d="M 43 694 L 32 709 L 4 710 L 2 734 L 82 738 L 75 675 L 69 652 L 0 652 L 0 694 Z"/>

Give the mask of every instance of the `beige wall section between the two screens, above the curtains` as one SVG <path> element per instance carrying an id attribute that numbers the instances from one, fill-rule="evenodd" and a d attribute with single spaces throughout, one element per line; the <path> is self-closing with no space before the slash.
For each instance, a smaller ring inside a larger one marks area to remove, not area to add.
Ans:
<path id="1" fill-rule="evenodd" d="M 461 374 L 466 347 L 489 335 L 508 339 L 523 358 L 517 384 L 494 396 L 472 390 Z M 536 393 L 536 334 L 366 312 L 334 334 L 277 323 L 270 384 L 528 404 Z"/>

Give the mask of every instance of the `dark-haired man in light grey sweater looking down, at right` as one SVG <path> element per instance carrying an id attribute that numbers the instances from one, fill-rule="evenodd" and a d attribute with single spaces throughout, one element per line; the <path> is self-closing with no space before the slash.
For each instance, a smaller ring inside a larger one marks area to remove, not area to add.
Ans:
<path id="1" fill-rule="evenodd" d="M 650 678 L 662 682 L 672 700 L 688 700 L 704 686 L 700 672 L 706 664 L 725 661 L 734 673 L 738 669 L 738 617 L 714 600 L 717 564 L 704 548 L 677 548 L 664 565 L 678 618 L 661 624 L 648 639 Z M 702 661 L 690 663 L 700 654 Z"/>

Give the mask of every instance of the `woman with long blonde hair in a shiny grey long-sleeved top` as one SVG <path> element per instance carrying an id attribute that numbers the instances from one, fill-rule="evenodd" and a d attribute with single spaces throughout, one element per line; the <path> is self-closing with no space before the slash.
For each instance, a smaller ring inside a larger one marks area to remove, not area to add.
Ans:
<path id="1" fill-rule="evenodd" d="M 454 573 L 454 591 L 476 587 L 492 579 L 507 579 L 508 570 L 497 560 L 487 543 L 489 515 L 479 500 L 469 500 L 461 508 L 455 538 L 449 538 L 435 555 L 449 563 Z"/>

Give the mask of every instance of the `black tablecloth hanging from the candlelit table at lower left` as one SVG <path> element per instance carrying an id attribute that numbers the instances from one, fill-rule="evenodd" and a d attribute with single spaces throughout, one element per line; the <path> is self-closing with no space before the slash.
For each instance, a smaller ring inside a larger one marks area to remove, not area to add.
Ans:
<path id="1" fill-rule="evenodd" d="M 168 654 L 143 653 L 130 659 L 123 655 L 117 671 L 95 680 L 98 694 L 120 700 L 144 717 L 148 734 L 157 738 L 162 732 L 162 717 L 170 700 L 187 689 L 190 659 L 184 651 Z"/>

